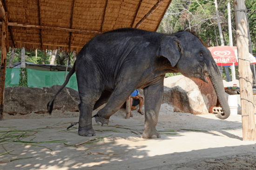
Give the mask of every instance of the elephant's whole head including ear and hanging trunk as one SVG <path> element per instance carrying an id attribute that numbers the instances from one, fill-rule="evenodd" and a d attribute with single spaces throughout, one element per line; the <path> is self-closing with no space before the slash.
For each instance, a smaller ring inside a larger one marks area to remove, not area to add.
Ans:
<path id="1" fill-rule="evenodd" d="M 200 39 L 189 32 L 166 35 L 161 39 L 158 54 L 166 57 L 172 67 L 176 66 L 178 72 L 188 78 L 198 78 L 208 83 L 206 75 L 209 75 L 223 110 L 223 114 L 216 117 L 229 117 L 230 109 L 218 65 Z"/>

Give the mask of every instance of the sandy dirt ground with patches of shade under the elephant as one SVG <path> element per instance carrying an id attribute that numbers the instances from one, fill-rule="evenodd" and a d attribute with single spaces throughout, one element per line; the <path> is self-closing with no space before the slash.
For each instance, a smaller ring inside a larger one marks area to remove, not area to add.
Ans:
<path id="1" fill-rule="evenodd" d="M 134 117 L 125 119 L 125 110 L 119 110 L 108 126 L 93 119 L 94 137 L 79 136 L 78 125 L 65 131 L 78 121 L 78 112 L 5 114 L 0 137 L 30 131 L 20 141 L 0 138 L 0 155 L 13 150 L 0 156 L 0 170 L 256 170 L 256 142 L 243 141 L 241 113 L 221 120 L 162 104 L 157 124 L 162 137 L 143 139 L 144 115 L 132 112 Z M 47 141 L 52 142 L 40 143 Z"/>

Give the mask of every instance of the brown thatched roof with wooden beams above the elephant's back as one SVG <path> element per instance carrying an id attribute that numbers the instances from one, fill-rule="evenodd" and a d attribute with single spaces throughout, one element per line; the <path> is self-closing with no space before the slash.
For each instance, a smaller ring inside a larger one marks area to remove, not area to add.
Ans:
<path id="1" fill-rule="evenodd" d="M 76 52 L 95 35 L 110 30 L 138 27 L 157 31 L 171 1 L 1 0 L 9 22 L 9 46 L 41 50 L 61 47 Z"/>

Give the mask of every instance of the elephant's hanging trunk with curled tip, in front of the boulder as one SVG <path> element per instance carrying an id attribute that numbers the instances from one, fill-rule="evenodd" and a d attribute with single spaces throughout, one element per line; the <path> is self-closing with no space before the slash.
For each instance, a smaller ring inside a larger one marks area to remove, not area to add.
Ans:
<path id="1" fill-rule="evenodd" d="M 224 85 L 223 85 L 222 76 L 221 76 L 219 67 L 215 63 L 215 61 L 210 61 L 208 63 L 207 69 L 208 69 L 209 78 L 215 89 L 216 95 L 219 99 L 219 102 L 222 106 L 222 111 L 223 111 L 222 114 L 219 113 L 218 115 L 216 115 L 216 117 L 220 119 L 229 118 L 230 109 L 229 109 L 227 97 L 225 95 Z"/>

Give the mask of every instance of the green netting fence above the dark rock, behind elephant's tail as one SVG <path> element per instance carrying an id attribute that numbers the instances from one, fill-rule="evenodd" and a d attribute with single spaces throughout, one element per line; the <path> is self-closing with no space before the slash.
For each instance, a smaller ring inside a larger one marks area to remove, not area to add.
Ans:
<path id="1" fill-rule="evenodd" d="M 67 72 L 68 73 L 68 72 Z M 20 68 L 6 69 L 6 87 L 15 87 L 19 85 Z M 47 72 L 27 69 L 27 84 L 28 87 L 51 87 L 53 85 L 62 85 L 65 81 L 65 72 Z M 69 79 L 66 87 L 70 87 L 76 91 L 77 81 L 75 73 Z"/>

